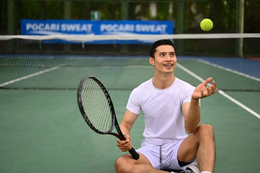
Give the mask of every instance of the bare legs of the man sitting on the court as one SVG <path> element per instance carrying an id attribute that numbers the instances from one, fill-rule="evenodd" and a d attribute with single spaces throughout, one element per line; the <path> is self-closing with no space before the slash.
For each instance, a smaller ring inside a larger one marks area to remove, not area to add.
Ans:
<path id="1" fill-rule="evenodd" d="M 187 163 L 197 158 L 200 172 L 209 171 L 213 173 L 215 141 L 212 126 L 198 126 L 180 145 L 177 158 L 179 161 Z M 130 154 L 119 157 L 115 162 L 115 170 L 117 173 L 167 173 L 156 170 L 142 154 L 140 154 L 138 160 L 132 159 Z"/>

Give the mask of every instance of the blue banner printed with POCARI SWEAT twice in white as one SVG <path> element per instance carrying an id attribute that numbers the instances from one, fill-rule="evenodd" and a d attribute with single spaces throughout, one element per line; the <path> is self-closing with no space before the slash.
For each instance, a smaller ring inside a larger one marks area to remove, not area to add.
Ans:
<path id="1" fill-rule="evenodd" d="M 21 35 L 173 34 L 173 21 L 21 20 Z M 137 42 L 137 41 L 136 41 Z M 107 41 L 105 42 L 107 43 Z M 114 42 L 113 42 L 114 43 Z"/>

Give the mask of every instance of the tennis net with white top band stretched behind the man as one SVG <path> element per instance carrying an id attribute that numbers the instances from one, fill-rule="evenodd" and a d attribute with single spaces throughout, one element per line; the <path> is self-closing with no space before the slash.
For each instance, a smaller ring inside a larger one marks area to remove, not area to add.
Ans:
<path id="1" fill-rule="evenodd" d="M 153 77 L 149 48 L 159 39 L 174 42 L 176 77 L 194 86 L 213 77 L 222 90 L 260 91 L 258 33 L 0 36 L 0 88 L 76 89 L 94 75 L 108 89 L 133 89 Z"/>

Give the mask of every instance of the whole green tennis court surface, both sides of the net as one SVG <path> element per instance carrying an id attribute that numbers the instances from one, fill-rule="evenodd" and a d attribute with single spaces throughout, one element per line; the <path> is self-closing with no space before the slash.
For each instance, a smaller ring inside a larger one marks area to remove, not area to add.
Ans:
<path id="1" fill-rule="evenodd" d="M 1 58 L 1 64 L 10 59 Z M 104 62 L 104 59 L 98 59 Z M 219 59 L 179 56 L 175 76 L 192 85 L 211 76 L 218 88 L 225 89 L 219 89 L 201 103 L 201 123 L 211 124 L 215 131 L 215 173 L 256 172 L 260 170 L 260 61 Z M 76 87 L 82 77 L 97 76 L 109 88 L 120 122 L 131 88 L 152 78 L 154 72 L 144 57 L 123 60 L 124 63 L 131 62 L 130 65 L 75 68 L 63 62 L 63 65 L 41 69 L 20 67 L 24 74 L 17 66 L 13 67 L 16 70 L 1 67 L 1 74 L 12 75 L 12 79 L 6 81 L 1 77 L 0 84 L 0 172 L 114 173 L 114 161 L 123 153 L 116 147 L 115 137 L 98 135 L 83 121 L 78 110 Z M 18 58 L 18 61 L 22 61 L 19 64 L 26 63 L 24 58 Z M 115 61 L 109 62 L 114 64 Z M 241 63 L 247 69 L 239 70 L 237 67 Z M 246 71 L 249 69 L 255 73 L 250 74 Z M 69 81 L 64 74 L 70 75 Z M 47 75 L 52 78 L 47 80 Z M 41 89 L 28 86 L 32 83 Z M 8 85 L 13 89 L 7 88 Z M 67 88 L 55 89 L 62 85 Z M 239 90 L 242 87 L 249 89 Z M 140 146 L 143 129 L 140 115 L 132 129 L 135 148 Z"/>

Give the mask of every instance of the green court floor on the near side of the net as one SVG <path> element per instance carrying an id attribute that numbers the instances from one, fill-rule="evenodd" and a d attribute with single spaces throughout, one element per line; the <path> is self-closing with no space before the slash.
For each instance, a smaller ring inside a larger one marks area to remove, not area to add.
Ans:
<path id="1" fill-rule="evenodd" d="M 131 90 L 109 90 L 119 122 Z M 260 114 L 260 92 L 226 91 Z M 201 123 L 214 127 L 215 173 L 260 170 L 260 119 L 219 92 L 202 99 Z M 115 173 L 124 154 L 111 135 L 96 134 L 82 119 L 76 90 L 0 89 L 0 173 Z M 135 148 L 144 129 L 132 129 Z"/>

